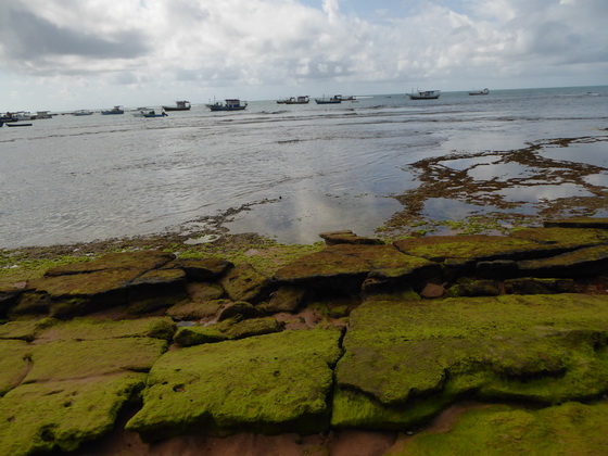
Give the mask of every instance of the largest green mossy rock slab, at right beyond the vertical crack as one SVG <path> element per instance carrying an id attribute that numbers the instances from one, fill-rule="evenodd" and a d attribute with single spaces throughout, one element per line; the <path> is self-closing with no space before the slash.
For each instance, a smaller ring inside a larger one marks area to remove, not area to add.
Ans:
<path id="1" fill-rule="evenodd" d="M 608 388 L 608 296 L 368 302 L 351 314 L 332 423 L 395 428 L 467 394 L 553 404 Z"/>

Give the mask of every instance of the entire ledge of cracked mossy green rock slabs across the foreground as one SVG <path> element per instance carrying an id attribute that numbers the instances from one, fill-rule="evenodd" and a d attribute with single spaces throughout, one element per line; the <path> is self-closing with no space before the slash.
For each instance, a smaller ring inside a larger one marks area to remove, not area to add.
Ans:
<path id="1" fill-rule="evenodd" d="M 387 455 L 608 445 L 608 220 L 324 239 L 0 269 L 0 455 L 73 452 L 134 405 L 123 432 L 144 442 L 356 428 L 415 434 Z"/>

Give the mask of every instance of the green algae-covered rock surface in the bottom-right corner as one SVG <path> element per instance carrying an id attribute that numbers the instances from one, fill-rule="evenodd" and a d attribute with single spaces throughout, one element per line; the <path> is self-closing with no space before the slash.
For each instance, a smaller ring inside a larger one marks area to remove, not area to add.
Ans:
<path id="1" fill-rule="evenodd" d="M 486 405 L 463 411 L 447 431 L 407 438 L 387 456 L 592 456 L 605 454 L 607 447 L 607 403 L 567 403 L 540 410 Z"/>

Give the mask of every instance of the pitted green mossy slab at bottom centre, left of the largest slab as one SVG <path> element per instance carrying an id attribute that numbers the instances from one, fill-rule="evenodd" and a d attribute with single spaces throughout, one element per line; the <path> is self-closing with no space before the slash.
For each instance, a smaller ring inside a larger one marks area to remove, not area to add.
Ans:
<path id="1" fill-rule="evenodd" d="M 327 429 L 340 337 L 283 331 L 168 352 L 150 371 L 143 408 L 127 429 L 148 441 L 217 429 Z"/>

